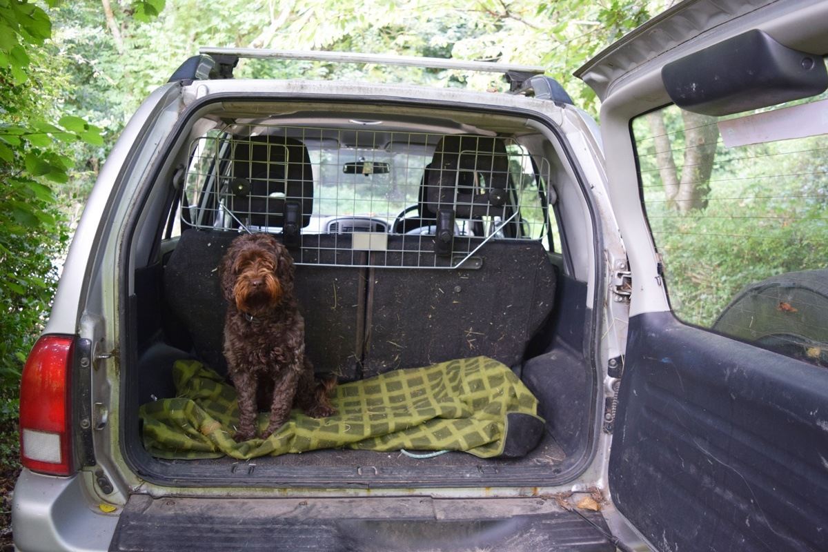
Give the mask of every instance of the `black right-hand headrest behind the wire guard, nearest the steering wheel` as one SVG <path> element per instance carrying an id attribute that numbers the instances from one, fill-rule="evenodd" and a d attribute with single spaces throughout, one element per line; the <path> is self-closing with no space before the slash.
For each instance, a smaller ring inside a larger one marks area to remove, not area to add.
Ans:
<path id="1" fill-rule="evenodd" d="M 454 209 L 457 218 L 506 218 L 509 158 L 503 138 L 446 136 L 426 170 L 426 208 Z"/>

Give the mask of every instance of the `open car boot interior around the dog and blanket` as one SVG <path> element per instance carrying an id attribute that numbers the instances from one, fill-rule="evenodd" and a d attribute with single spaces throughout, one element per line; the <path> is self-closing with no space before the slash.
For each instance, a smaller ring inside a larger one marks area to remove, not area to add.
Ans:
<path id="1" fill-rule="evenodd" d="M 291 107 L 267 106 L 267 117 L 253 103 L 203 109 L 182 124 L 147 194 L 155 228 L 143 223 L 134 239 L 151 240 L 151 253 L 127 275 L 128 461 L 181 485 L 537 485 L 577 475 L 592 450 L 598 385 L 590 268 L 577 260 L 595 238 L 551 127 L 497 113 Z M 354 382 L 493 358 L 537 397 L 541 442 L 522 458 L 350 449 L 152 458 L 137 409 L 176 395 L 172 363 L 227 372 L 217 267 L 244 232 L 273 233 L 291 252 L 318 374 Z"/>

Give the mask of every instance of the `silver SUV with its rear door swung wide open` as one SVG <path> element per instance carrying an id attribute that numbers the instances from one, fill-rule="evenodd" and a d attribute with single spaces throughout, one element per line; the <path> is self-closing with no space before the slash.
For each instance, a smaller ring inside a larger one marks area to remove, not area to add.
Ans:
<path id="1" fill-rule="evenodd" d="M 828 549 L 826 52 L 826 2 L 683 2 L 577 72 L 599 133 L 537 68 L 475 93 L 203 50 L 113 148 L 26 362 L 17 549 Z M 340 388 L 485 357 L 531 412 L 474 454 L 192 422 L 232 392 L 216 268 L 248 232 Z"/>

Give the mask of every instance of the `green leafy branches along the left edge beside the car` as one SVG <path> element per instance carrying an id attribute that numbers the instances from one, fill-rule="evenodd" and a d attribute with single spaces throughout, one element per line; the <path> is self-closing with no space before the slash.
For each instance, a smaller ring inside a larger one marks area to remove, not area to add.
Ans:
<path id="1" fill-rule="evenodd" d="M 49 7 L 56 2 L 50 0 Z M 0 0 L 0 433 L 12 434 L 17 382 L 55 292 L 70 228 L 58 196 L 75 152 L 103 144 L 99 127 L 60 108 L 68 60 L 41 7 Z M 0 464 L 9 462 L 9 439 Z M 16 439 L 13 439 L 16 440 Z M 13 442 L 13 441 L 12 441 Z"/>

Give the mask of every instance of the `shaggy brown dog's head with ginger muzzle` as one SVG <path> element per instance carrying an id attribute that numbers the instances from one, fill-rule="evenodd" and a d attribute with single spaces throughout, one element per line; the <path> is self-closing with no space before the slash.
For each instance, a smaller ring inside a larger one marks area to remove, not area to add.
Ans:
<path id="1" fill-rule="evenodd" d="M 233 240 L 219 266 L 224 299 L 253 316 L 275 309 L 293 291 L 291 254 L 271 234 Z"/>

